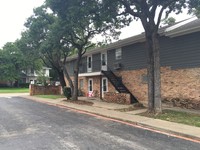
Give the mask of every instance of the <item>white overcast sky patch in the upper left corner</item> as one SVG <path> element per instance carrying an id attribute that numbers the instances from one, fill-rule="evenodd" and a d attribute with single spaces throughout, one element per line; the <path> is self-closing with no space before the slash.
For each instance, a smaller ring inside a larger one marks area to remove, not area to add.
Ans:
<path id="1" fill-rule="evenodd" d="M 43 3 L 44 0 L 1 0 L 0 47 L 20 38 L 26 19 L 33 14 L 33 8 Z"/>

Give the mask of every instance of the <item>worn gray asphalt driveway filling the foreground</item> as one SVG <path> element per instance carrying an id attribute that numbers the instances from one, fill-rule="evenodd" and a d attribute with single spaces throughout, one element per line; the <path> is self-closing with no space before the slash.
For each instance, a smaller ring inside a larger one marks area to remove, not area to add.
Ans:
<path id="1" fill-rule="evenodd" d="M 0 97 L 0 150 L 199 150 L 200 144 L 20 97 Z"/>

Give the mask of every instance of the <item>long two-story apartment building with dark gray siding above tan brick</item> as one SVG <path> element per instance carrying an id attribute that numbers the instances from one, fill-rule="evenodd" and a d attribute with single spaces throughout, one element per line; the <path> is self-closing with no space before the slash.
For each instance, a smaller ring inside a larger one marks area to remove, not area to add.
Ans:
<path id="1" fill-rule="evenodd" d="M 159 34 L 162 99 L 200 103 L 200 19 L 163 27 Z M 66 64 L 71 77 L 75 61 L 71 57 Z M 147 104 L 144 33 L 86 52 L 80 64 L 79 88 L 85 96 L 118 103 L 128 97 L 130 102 Z"/>

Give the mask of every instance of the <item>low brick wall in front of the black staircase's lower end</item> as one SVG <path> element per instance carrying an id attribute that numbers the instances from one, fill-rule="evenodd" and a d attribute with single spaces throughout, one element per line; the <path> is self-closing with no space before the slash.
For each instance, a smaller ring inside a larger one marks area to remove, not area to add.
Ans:
<path id="1" fill-rule="evenodd" d="M 106 92 L 104 101 L 118 104 L 131 104 L 131 96 L 127 93 Z"/>

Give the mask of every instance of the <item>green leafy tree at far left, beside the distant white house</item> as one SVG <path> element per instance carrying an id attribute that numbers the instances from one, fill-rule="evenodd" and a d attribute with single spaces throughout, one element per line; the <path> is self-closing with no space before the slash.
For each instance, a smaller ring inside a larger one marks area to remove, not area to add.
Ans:
<path id="1" fill-rule="evenodd" d="M 28 67 L 36 69 L 36 61 L 31 62 L 33 57 L 27 58 L 26 53 L 20 49 L 19 40 L 13 43 L 6 43 L 0 53 L 1 80 L 10 81 L 11 83 L 16 82 L 16 86 L 18 86 L 23 70 L 26 70 Z"/>

